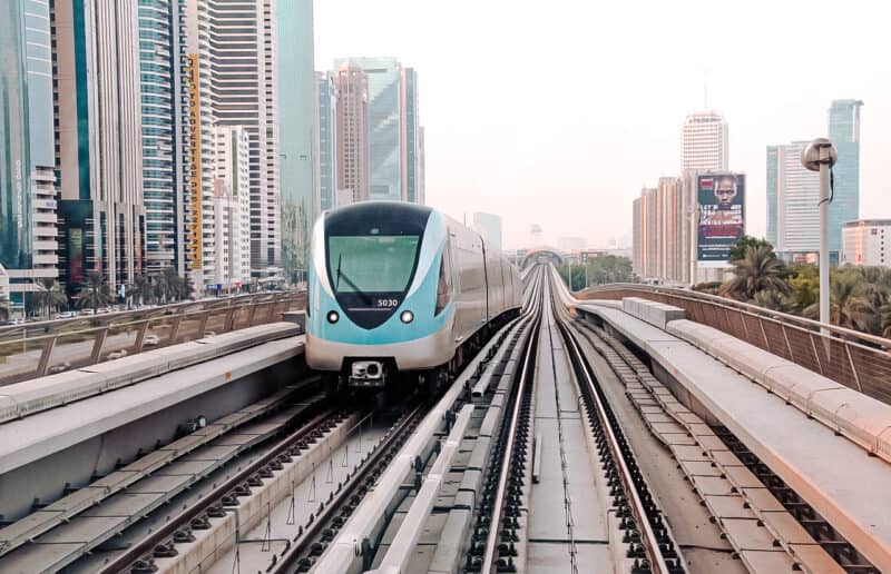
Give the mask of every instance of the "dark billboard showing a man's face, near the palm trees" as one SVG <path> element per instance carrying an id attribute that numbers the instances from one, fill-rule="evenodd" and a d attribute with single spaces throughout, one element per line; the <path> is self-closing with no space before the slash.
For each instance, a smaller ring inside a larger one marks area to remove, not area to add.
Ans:
<path id="1" fill-rule="evenodd" d="M 745 176 L 698 176 L 697 198 L 696 258 L 699 267 L 726 267 L 730 265 L 731 247 L 745 232 Z"/>

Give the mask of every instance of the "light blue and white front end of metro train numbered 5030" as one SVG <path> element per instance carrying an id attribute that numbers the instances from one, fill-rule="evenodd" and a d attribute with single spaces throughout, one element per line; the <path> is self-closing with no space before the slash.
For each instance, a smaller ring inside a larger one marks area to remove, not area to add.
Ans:
<path id="1" fill-rule="evenodd" d="M 454 354 L 447 229 L 438 211 L 411 204 L 324 214 L 311 246 L 306 364 L 350 386 L 383 387 L 395 372 L 447 363 Z"/>

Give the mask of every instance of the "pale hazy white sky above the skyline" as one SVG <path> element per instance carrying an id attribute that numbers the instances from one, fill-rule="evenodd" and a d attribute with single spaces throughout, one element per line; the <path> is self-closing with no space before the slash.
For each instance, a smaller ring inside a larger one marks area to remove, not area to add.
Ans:
<path id="1" fill-rule="evenodd" d="M 604 246 L 630 241 L 642 187 L 678 174 L 706 80 L 750 234 L 766 229 L 765 146 L 825 136 L 841 98 L 865 103 L 861 217 L 891 217 L 889 21 L 887 1 L 315 0 L 315 59 L 418 69 L 428 204 L 501 215 L 507 247 L 532 222 Z"/>

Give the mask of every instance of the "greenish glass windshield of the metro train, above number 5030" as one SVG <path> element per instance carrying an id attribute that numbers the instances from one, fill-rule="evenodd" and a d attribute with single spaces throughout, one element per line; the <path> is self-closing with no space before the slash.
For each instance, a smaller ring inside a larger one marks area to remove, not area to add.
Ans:
<path id="1" fill-rule="evenodd" d="M 329 269 L 334 291 L 339 295 L 404 291 L 412 277 L 420 239 L 417 235 L 330 236 Z"/>

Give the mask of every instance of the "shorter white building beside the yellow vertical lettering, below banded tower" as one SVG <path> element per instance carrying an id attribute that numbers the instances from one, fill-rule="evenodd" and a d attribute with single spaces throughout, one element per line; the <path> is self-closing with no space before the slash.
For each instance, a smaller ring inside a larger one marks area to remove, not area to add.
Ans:
<path id="1" fill-rule="evenodd" d="M 213 257 L 204 285 L 237 291 L 251 280 L 251 138 L 241 126 L 214 130 Z"/>

